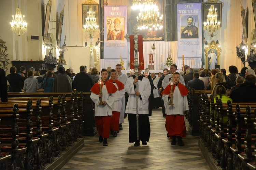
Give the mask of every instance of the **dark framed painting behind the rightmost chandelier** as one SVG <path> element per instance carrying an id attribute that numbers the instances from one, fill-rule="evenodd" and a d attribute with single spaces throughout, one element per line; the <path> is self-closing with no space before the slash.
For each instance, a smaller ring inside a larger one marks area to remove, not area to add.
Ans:
<path id="1" fill-rule="evenodd" d="M 206 22 L 207 21 L 207 16 L 208 16 L 208 13 L 209 13 L 209 10 L 211 8 L 211 5 L 214 5 L 214 9 L 215 9 L 215 12 L 217 14 L 217 21 L 218 22 L 221 22 L 221 17 L 222 17 L 222 3 L 204 3 L 203 4 L 203 10 L 204 10 L 204 14 L 203 14 L 203 22 Z M 221 22 L 222 23 L 222 22 Z M 220 24 L 221 26 L 221 24 Z"/>

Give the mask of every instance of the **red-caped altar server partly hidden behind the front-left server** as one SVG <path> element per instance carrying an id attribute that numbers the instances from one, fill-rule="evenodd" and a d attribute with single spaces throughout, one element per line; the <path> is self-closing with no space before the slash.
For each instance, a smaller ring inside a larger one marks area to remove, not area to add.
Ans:
<path id="1" fill-rule="evenodd" d="M 125 96 L 125 85 L 117 80 L 118 74 L 116 69 L 111 70 L 111 79 L 108 82 L 113 83 L 118 91 L 115 92 L 115 102 L 112 107 L 112 118 L 110 123 L 111 134 L 116 137 L 117 131 L 119 130 L 119 117 L 122 110 L 122 98 Z"/>

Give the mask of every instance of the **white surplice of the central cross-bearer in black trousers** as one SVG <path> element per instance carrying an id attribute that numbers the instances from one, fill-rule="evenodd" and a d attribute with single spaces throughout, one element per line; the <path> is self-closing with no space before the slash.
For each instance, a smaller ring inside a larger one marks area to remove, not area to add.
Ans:
<path id="1" fill-rule="evenodd" d="M 129 94 L 128 103 L 126 106 L 126 113 L 136 114 L 136 89 L 134 89 L 133 85 L 133 77 L 127 79 L 125 84 L 125 91 Z M 138 81 L 138 91 L 140 92 L 141 98 L 138 98 L 138 107 L 139 107 L 139 114 L 140 115 L 148 115 L 148 98 L 151 94 L 151 85 L 150 81 L 143 77 L 142 81 Z"/>

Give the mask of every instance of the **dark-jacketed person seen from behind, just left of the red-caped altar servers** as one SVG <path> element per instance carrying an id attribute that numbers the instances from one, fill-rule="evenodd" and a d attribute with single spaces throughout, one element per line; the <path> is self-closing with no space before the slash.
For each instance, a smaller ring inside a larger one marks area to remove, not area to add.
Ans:
<path id="1" fill-rule="evenodd" d="M 91 87 L 94 85 L 93 77 L 86 73 L 85 66 L 80 66 L 80 73 L 75 75 L 74 88 L 80 92 L 90 92 Z"/>

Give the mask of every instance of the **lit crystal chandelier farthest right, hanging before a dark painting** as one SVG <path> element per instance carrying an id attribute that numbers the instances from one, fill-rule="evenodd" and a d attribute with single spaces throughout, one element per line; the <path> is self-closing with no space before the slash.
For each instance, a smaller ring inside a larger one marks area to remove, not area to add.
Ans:
<path id="1" fill-rule="evenodd" d="M 211 5 L 207 15 L 207 21 L 203 23 L 204 30 L 207 30 L 211 37 L 217 35 L 218 29 L 221 27 L 221 22 L 217 22 L 217 12 L 214 10 L 214 5 Z"/>

